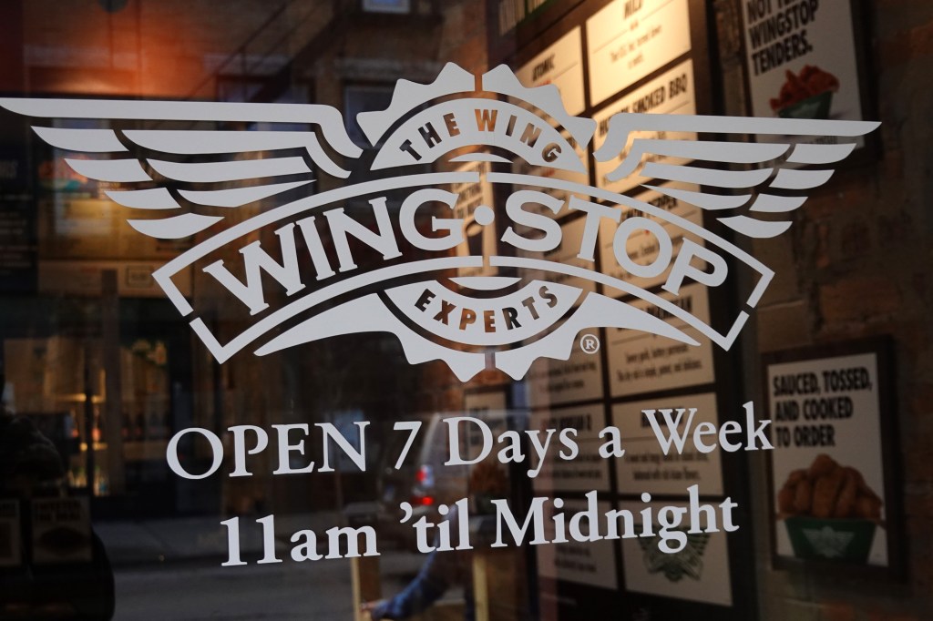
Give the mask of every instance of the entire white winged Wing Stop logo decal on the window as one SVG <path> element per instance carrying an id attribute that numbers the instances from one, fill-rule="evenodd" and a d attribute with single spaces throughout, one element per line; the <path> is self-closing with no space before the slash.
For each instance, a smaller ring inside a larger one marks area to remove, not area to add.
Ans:
<path id="1" fill-rule="evenodd" d="M 656 197 L 636 200 L 572 180 L 585 178 L 596 123 L 569 116 L 553 86 L 522 87 L 504 65 L 479 80 L 448 64 L 431 84 L 399 81 L 387 109 L 356 118 L 377 145 L 358 183 L 351 170 L 364 151 L 324 105 L 0 105 L 59 119 L 35 132 L 82 154 L 65 158 L 77 173 L 118 184 L 106 194 L 140 233 L 196 242 L 153 277 L 219 362 L 383 331 L 410 363 L 443 360 L 464 381 L 487 360 L 521 379 L 537 358 L 566 359 L 579 335 L 592 338 L 588 328 L 728 349 L 773 272 L 672 206 L 745 236 L 779 235 L 878 125 L 621 113 L 599 128 L 593 158 L 615 166 L 607 182 L 632 178 Z M 89 118 L 109 129 L 73 121 Z M 736 134 L 773 142 L 728 140 Z M 321 190 L 324 175 L 347 181 Z M 267 207 L 273 198 L 281 204 Z M 244 219 L 236 210 L 248 205 Z M 145 210 L 164 217 L 132 215 Z M 222 342 L 179 289 L 188 269 L 252 322 Z M 691 289 L 736 279 L 754 283 L 751 295 L 718 329 L 691 312 Z"/>

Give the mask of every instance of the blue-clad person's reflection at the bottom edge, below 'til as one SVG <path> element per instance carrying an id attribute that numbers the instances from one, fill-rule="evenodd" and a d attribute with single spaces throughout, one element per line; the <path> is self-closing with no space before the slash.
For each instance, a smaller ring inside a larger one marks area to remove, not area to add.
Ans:
<path id="1" fill-rule="evenodd" d="M 457 532 L 459 519 L 456 507 L 445 517 L 450 522 L 451 532 Z M 469 550 L 447 550 L 431 552 L 421 571 L 400 593 L 390 600 L 372 601 L 363 604 L 373 621 L 380 619 L 407 619 L 420 614 L 433 604 L 453 585 L 464 585 L 466 600 L 464 618 L 472 621 L 473 575 L 472 557 Z"/>

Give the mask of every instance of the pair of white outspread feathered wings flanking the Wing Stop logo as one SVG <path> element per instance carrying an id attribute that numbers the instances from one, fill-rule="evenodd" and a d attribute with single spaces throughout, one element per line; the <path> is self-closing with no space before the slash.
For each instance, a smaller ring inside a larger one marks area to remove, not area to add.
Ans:
<path id="1" fill-rule="evenodd" d="M 344 129 L 340 112 L 326 105 L 0 99 L 0 106 L 28 117 L 55 119 L 312 127 L 246 131 L 34 126 L 49 145 L 90 156 L 65 158 L 76 173 L 138 186 L 106 191 L 111 200 L 132 209 L 165 210 L 158 219 L 129 219 L 133 228 L 159 239 L 185 238 L 223 219 L 199 213 L 202 207 L 236 208 L 268 199 L 312 183 L 313 171 L 347 177 L 349 172 L 330 157 L 325 145 L 345 158 L 362 153 Z M 790 220 L 760 216 L 799 208 L 810 191 L 829 180 L 831 166 L 852 153 L 856 139 L 878 126 L 870 121 L 621 113 L 609 119 L 606 140 L 594 156 L 597 161 L 620 158 L 606 174 L 610 182 L 634 176 L 641 186 L 721 213 L 717 219 L 743 235 L 770 238 L 786 231 Z M 720 138 L 758 134 L 769 142 L 664 137 L 683 132 Z M 813 136 L 819 137 L 816 143 Z M 199 161 L 187 160 L 192 157 Z M 703 191 L 661 185 L 667 181 L 703 186 Z"/>

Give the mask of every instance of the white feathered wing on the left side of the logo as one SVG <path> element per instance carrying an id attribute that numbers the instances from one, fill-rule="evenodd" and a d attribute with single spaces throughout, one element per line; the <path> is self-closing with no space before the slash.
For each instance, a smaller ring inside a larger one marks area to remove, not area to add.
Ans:
<path id="1" fill-rule="evenodd" d="M 325 145 L 346 158 L 362 153 L 340 112 L 327 105 L 0 98 L 0 107 L 26 117 L 149 121 L 150 126 L 158 121 L 156 129 L 33 126 L 49 145 L 82 154 L 65 158 L 76 173 L 120 184 L 105 192 L 110 200 L 131 209 L 164 210 L 164 217 L 128 220 L 132 228 L 158 239 L 185 238 L 225 217 L 198 213 L 210 211 L 202 208 L 237 208 L 268 199 L 313 183 L 317 171 L 347 177 L 350 172 L 328 155 Z M 199 128 L 204 123 L 284 124 L 287 129 L 160 129 L 163 121 Z M 313 129 L 293 131 L 295 125 Z"/>

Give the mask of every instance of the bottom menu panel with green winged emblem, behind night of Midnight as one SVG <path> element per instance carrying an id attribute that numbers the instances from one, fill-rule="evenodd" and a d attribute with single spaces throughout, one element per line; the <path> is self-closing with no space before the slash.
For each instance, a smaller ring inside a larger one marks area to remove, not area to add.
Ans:
<path id="1" fill-rule="evenodd" d="M 687 503 L 621 503 L 636 517 L 645 507 L 657 516 L 661 506 L 687 507 Z M 641 525 L 635 527 L 641 532 Z M 654 531 L 659 531 L 655 524 Z M 659 549 L 660 536 L 622 539 L 625 586 L 636 593 L 677 600 L 703 601 L 731 606 L 732 586 L 729 546 L 725 531 L 687 535 L 687 545 L 675 553 Z"/>

